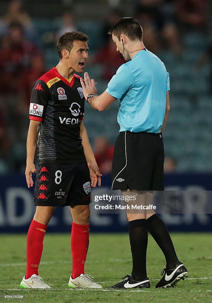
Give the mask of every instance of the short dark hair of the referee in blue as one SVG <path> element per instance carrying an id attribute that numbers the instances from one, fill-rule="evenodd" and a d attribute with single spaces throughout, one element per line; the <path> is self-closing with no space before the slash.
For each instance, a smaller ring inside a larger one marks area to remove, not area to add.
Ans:
<path id="1" fill-rule="evenodd" d="M 124 17 L 119 19 L 116 24 L 108 32 L 109 35 L 114 35 L 121 41 L 121 34 L 126 35 L 131 41 L 143 39 L 143 30 L 140 23 L 132 17 Z"/>

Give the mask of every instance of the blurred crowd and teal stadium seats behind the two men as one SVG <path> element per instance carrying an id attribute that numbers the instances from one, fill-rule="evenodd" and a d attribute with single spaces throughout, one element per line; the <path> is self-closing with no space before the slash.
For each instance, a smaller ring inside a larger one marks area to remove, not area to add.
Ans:
<path id="1" fill-rule="evenodd" d="M 27 6 L 28 2 L 30 0 L 2 1 L 4 9 L 0 13 L 1 175 L 25 171 L 31 88 L 41 75 L 57 64 L 57 39 L 73 30 L 88 35 L 89 58 L 84 71 L 98 82 L 98 93 L 101 93 L 125 62 L 107 32 L 119 18 L 127 16 L 140 22 L 145 47 L 164 62 L 170 73 L 171 111 L 163 134 L 165 172 L 212 171 L 209 1 L 53 0 L 54 5 L 57 2 L 60 5 L 61 14 L 55 12 L 52 16 L 47 11 L 44 17 L 43 12 L 35 15 L 30 5 Z M 50 4 L 48 0 L 35 0 L 33 5 L 38 5 L 42 11 L 45 2 Z M 94 18 L 84 13 L 91 9 L 96 12 Z M 102 113 L 85 106 L 84 124 L 103 174 L 111 171 L 113 147 L 119 131 L 118 103 L 117 100 Z"/>

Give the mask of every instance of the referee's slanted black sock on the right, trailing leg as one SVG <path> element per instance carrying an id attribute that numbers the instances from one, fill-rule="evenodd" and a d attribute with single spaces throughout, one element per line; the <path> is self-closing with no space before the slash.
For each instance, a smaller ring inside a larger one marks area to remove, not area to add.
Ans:
<path id="1" fill-rule="evenodd" d="M 148 231 L 163 251 L 168 268 L 174 268 L 179 260 L 177 258 L 174 245 L 164 221 L 157 214 L 146 220 Z"/>

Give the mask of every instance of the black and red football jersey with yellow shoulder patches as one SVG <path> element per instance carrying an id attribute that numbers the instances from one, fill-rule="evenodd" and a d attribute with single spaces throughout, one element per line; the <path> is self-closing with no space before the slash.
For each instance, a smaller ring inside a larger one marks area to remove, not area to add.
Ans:
<path id="1" fill-rule="evenodd" d="M 29 118 L 41 122 L 38 138 L 39 164 L 86 161 L 80 138 L 84 101 L 78 75 L 74 74 L 69 83 L 53 67 L 35 82 Z"/>

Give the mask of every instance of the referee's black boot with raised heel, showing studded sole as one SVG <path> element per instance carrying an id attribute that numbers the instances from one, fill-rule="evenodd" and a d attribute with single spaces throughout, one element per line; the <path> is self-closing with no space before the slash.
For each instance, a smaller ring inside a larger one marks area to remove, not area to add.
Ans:
<path id="1" fill-rule="evenodd" d="M 170 288 L 177 285 L 181 279 L 184 280 L 188 276 L 188 271 L 182 262 L 179 262 L 175 268 L 164 268 L 161 271 L 161 281 L 157 283 L 155 288 Z"/>

